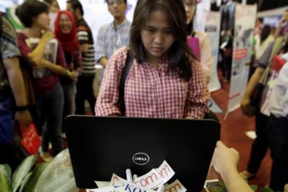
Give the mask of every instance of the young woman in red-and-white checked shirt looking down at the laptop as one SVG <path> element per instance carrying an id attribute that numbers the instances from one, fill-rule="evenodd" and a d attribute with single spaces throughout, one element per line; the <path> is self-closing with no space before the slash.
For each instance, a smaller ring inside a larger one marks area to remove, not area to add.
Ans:
<path id="1" fill-rule="evenodd" d="M 200 119 L 209 111 L 206 78 L 186 44 L 185 21 L 181 1 L 138 1 L 130 31 L 134 61 L 125 82 L 123 115 Z M 107 64 L 96 115 L 121 115 L 118 89 L 127 52 L 128 47 L 122 47 Z"/>

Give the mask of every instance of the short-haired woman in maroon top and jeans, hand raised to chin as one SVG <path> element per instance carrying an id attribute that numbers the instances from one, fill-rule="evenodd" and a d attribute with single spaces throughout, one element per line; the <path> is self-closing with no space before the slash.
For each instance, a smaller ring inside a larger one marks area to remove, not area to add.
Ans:
<path id="1" fill-rule="evenodd" d="M 39 133 L 41 133 L 44 121 L 47 122 L 48 137 L 43 136 L 42 138 L 43 153 L 41 155 L 44 160 L 51 160 L 48 153 L 49 141 L 52 143 L 54 155 L 63 149 L 61 123 L 64 98 L 59 76 L 66 75 L 73 80 L 76 80 L 77 77 L 65 69 L 66 62 L 59 42 L 58 47 L 54 47 L 57 48 L 56 63 L 43 57 L 47 44 L 49 44 L 48 41 L 54 37 L 49 31 L 48 6 L 41 1 L 27 0 L 18 7 L 16 14 L 25 26 L 24 31 L 18 33 L 18 45 L 22 54 L 20 64 L 22 67 L 30 69 L 33 77 L 37 108 L 35 123 Z M 34 49 L 29 46 L 31 37 L 40 39 Z"/>

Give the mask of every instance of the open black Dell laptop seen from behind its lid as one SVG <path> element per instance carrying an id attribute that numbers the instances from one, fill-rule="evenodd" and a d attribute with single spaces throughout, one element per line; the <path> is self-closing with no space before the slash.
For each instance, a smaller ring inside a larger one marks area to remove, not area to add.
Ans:
<path id="1" fill-rule="evenodd" d="M 110 181 L 113 173 L 126 179 L 127 168 L 142 176 L 166 160 L 175 171 L 168 183 L 178 179 L 187 191 L 201 191 L 220 136 L 214 120 L 71 115 L 64 125 L 83 189 L 97 188 L 94 181 Z"/>

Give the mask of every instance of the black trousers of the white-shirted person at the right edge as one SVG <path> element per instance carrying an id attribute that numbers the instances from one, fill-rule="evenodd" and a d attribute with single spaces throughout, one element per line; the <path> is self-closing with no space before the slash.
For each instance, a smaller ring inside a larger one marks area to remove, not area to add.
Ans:
<path id="1" fill-rule="evenodd" d="M 274 191 L 284 191 L 284 186 L 288 183 L 288 119 L 276 118 L 271 114 L 268 131 L 273 160 L 270 188 Z"/>

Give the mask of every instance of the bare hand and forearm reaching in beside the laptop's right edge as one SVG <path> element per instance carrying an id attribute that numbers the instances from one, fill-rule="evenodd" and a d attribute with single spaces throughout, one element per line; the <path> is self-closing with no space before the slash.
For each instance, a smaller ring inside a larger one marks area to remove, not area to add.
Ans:
<path id="1" fill-rule="evenodd" d="M 217 142 L 211 164 L 224 180 L 229 192 L 253 192 L 237 170 L 239 153 Z"/>

